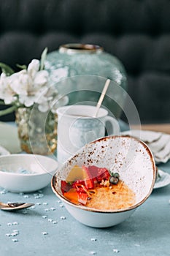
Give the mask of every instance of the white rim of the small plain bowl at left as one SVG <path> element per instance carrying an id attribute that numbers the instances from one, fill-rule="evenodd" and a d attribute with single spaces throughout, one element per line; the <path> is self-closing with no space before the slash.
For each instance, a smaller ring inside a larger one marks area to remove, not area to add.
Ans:
<path id="1" fill-rule="evenodd" d="M 46 171 L 44 170 L 43 173 L 15 173 L 15 172 L 5 172 L 3 170 L 0 169 L 0 175 L 3 174 L 3 175 L 7 175 L 7 176 L 18 176 L 18 177 L 31 177 L 31 176 L 43 176 L 45 174 L 51 174 L 53 175 L 53 173 L 58 169 L 58 161 L 56 161 L 55 159 L 53 158 L 50 158 L 50 157 L 47 157 L 47 156 L 43 156 L 43 155 L 39 155 L 39 154 L 7 154 L 7 155 L 2 155 L 0 156 L 0 160 L 1 158 L 9 158 L 9 157 L 22 157 L 22 158 L 32 158 L 32 157 L 37 157 L 37 158 L 48 158 L 50 160 L 52 160 L 53 162 L 56 162 L 56 167 L 53 169 L 53 170 L 50 170 L 50 171 Z M 37 162 L 39 160 L 37 159 Z"/>

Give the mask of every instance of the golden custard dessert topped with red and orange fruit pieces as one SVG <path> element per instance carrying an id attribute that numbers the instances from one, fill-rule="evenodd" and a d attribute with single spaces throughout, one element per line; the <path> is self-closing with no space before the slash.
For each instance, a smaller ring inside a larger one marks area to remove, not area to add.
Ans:
<path id="1" fill-rule="evenodd" d="M 94 165 L 74 166 L 66 181 L 61 181 L 61 192 L 72 203 L 102 211 L 120 210 L 136 203 L 135 193 L 118 173 Z"/>

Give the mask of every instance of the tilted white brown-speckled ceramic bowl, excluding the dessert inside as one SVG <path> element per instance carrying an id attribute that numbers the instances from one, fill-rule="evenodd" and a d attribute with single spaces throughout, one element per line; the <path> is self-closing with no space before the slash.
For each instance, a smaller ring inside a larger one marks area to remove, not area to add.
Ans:
<path id="1" fill-rule="evenodd" d="M 129 208 L 108 211 L 71 203 L 61 192 L 61 179 L 66 179 L 74 165 L 107 167 L 120 174 L 120 179 L 136 194 L 136 203 Z M 57 170 L 52 189 L 72 216 L 91 227 L 110 227 L 131 216 L 150 196 L 155 184 L 156 168 L 150 149 L 145 143 L 129 136 L 101 138 L 81 148 Z"/>

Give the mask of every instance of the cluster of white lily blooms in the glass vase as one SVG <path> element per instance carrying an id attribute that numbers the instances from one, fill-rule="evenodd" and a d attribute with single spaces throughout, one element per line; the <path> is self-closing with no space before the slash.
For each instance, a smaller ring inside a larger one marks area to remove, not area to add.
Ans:
<path id="1" fill-rule="evenodd" d="M 20 108 L 20 106 L 30 108 L 36 104 L 41 112 L 52 111 L 59 105 L 63 105 L 61 99 L 58 101 L 58 91 L 54 86 L 50 86 L 47 70 L 39 70 L 41 64 L 43 61 L 33 59 L 28 64 L 28 68 L 22 69 L 20 72 L 9 76 L 2 72 L 0 99 L 3 99 L 7 105 L 15 105 L 16 108 Z M 64 76 L 64 74 L 66 72 L 61 70 L 60 75 Z"/>

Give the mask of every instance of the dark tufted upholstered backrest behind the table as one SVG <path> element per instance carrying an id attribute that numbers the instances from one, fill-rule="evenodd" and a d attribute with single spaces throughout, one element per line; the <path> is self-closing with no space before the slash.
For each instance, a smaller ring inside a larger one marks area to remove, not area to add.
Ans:
<path id="1" fill-rule="evenodd" d="M 117 56 L 142 123 L 170 122 L 169 0 L 0 0 L 1 62 L 16 69 L 69 42 Z"/>

